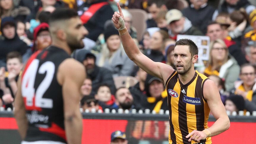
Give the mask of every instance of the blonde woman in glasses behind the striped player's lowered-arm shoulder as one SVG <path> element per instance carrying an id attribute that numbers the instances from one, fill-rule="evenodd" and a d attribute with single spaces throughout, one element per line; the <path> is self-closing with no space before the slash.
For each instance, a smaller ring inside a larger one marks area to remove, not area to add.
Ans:
<path id="1" fill-rule="evenodd" d="M 228 51 L 225 42 L 216 39 L 210 43 L 210 56 L 204 75 L 217 75 L 225 80 L 226 91 L 234 88 L 234 82 L 238 79 L 240 67 L 235 58 Z"/>

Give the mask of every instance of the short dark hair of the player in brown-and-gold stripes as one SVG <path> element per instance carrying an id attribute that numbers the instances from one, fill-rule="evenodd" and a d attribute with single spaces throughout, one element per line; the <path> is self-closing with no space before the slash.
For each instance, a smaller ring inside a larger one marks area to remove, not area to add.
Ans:
<path id="1" fill-rule="evenodd" d="M 195 55 L 198 55 L 197 45 L 191 39 L 180 39 L 175 43 L 175 47 L 177 45 L 188 45 L 189 46 L 189 52 L 191 53 L 191 57 L 195 56 Z"/>

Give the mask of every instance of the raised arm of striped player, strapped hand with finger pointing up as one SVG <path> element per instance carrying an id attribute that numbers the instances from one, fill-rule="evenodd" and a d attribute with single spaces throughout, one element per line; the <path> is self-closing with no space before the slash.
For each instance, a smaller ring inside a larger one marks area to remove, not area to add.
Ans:
<path id="1" fill-rule="evenodd" d="M 124 16 L 119 3 L 117 3 L 117 7 L 119 13 L 115 12 L 112 20 L 115 27 L 119 30 L 122 44 L 124 46 L 124 50 L 127 56 L 148 74 L 154 75 L 161 79 L 163 79 L 163 77 L 169 77 L 170 74 L 173 73 L 174 69 L 167 64 L 154 62 L 140 52 L 139 48 L 130 36 L 126 27 L 124 26 Z"/>

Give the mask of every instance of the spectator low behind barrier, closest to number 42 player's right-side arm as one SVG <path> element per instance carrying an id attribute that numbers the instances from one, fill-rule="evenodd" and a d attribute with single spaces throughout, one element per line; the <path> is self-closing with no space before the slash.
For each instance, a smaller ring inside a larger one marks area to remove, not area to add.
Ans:
<path id="1" fill-rule="evenodd" d="M 95 109 L 96 112 L 98 112 L 98 110 L 102 110 L 102 107 L 99 106 L 99 101 L 95 99 L 94 96 L 83 96 L 83 98 L 80 101 L 80 105 L 81 108 L 83 108 L 83 111 L 85 111 L 86 109 L 88 109 L 89 112 L 91 112 L 91 109 Z"/>

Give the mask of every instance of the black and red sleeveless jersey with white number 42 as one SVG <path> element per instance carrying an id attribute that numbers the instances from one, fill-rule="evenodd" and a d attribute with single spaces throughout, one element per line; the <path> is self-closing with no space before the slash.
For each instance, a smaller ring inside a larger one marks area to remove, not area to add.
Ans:
<path id="1" fill-rule="evenodd" d="M 70 56 L 54 46 L 34 53 L 22 74 L 21 93 L 29 122 L 25 141 L 67 143 L 62 86 L 57 82 L 61 62 Z"/>

